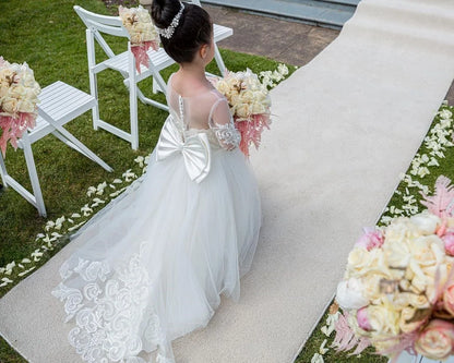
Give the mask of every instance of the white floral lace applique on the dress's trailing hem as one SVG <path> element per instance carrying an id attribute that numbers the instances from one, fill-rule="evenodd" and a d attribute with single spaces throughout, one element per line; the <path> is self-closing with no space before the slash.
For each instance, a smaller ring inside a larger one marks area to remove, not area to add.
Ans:
<path id="1" fill-rule="evenodd" d="M 164 344 L 166 338 L 147 301 L 150 279 L 141 263 L 141 253 L 133 254 L 108 278 L 110 273 L 106 261 L 79 258 L 72 270 L 68 263 L 61 266 L 63 280 L 79 274 L 87 282 L 81 290 L 60 282 L 51 291 L 60 301 L 65 300 L 65 322 L 75 317 L 76 327 L 71 329 L 68 339 L 85 362 L 145 363 L 135 356 L 143 347 L 138 329 L 142 319 L 147 317 L 144 339 L 152 346 Z M 163 359 L 163 363 L 168 362 Z"/>

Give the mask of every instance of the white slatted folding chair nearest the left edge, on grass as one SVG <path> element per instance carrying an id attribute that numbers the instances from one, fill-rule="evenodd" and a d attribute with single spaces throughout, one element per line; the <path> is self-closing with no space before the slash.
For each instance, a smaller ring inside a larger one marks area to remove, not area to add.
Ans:
<path id="1" fill-rule="evenodd" d="M 3 157 L 0 153 L 0 174 L 3 180 L 3 185 L 5 187 L 13 187 L 38 209 L 40 216 L 46 217 L 46 207 L 33 158 L 32 144 L 36 141 L 52 133 L 68 146 L 100 165 L 105 170 L 112 171 L 112 168 L 63 128 L 65 123 L 94 108 L 96 104 L 97 101 L 93 96 L 60 81 L 41 89 L 36 125 L 32 130 L 28 129 L 17 142 L 19 147 L 24 149 L 33 193 L 28 192 L 8 174 Z"/>

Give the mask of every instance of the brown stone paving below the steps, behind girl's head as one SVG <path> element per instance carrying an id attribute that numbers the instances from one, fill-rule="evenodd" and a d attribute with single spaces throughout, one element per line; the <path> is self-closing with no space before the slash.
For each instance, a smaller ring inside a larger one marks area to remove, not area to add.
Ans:
<path id="1" fill-rule="evenodd" d="M 339 34 L 339 31 L 331 28 L 250 14 L 231 8 L 206 4 L 203 8 L 215 23 L 234 28 L 234 35 L 220 41 L 220 47 L 298 66 L 310 62 Z M 454 105 L 454 82 L 445 99 Z"/>

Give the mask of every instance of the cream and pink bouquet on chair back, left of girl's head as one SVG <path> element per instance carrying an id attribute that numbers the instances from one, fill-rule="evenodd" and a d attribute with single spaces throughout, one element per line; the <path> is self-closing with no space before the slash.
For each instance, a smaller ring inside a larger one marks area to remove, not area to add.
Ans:
<path id="1" fill-rule="evenodd" d="M 152 47 L 154 50 L 159 49 L 159 36 L 156 27 L 152 23 L 152 17 L 147 10 L 142 5 L 139 8 L 119 7 L 118 12 L 123 26 L 130 35 L 131 51 L 135 58 L 135 69 L 141 72 L 141 64 L 150 66 L 150 59 L 146 51 Z"/>

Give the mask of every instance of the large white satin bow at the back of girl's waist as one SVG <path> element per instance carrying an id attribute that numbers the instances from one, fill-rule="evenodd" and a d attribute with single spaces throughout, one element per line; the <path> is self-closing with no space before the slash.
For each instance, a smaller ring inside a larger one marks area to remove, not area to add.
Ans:
<path id="1" fill-rule="evenodd" d="M 208 174 L 211 148 L 206 134 L 201 132 L 184 140 L 172 117 L 169 117 L 160 131 L 156 146 L 156 160 L 164 160 L 175 153 L 183 155 L 186 169 L 191 180 L 200 183 Z"/>

